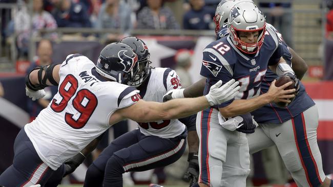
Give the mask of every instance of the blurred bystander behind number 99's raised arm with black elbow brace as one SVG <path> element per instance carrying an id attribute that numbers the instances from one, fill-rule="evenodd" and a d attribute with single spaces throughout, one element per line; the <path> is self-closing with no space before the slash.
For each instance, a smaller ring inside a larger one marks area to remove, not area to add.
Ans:
<path id="1" fill-rule="evenodd" d="M 39 65 L 51 65 L 52 54 L 53 50 L 51 41 L 47 39 L 40 40 L 37 47 L 38 59 L 31 63 L 30 67 L 27 69 L 27 73 L 31 72 L 33 68 Z M 57 87 L 50 86 L 46 87 L 44 90 L 46 92 L 46 96 L 44 98 L 40 98 L 36 101 L 32 101 L 30 98 L 27 100 L 30 121 L 33 121 L 37 117 L 38 113 L 49 105 L 51 99 L 57 92 Z"/>

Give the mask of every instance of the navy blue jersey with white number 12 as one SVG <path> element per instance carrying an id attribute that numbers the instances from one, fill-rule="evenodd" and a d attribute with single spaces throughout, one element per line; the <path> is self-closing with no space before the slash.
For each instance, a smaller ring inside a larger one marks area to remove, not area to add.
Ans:
<path id="1" fill-rule="evenodd" d="M 260 84 L 266 73 L 267 65 L 278 63 L 282 56 L 282 44 L 277 33 L 267 28 L 260 50 L 253 55 L 240 52 L 231 41 L 224 37 L 213 41 L 203 50 L 200 74 L 207 78 L 204 94 L 218 80 L 223 83 L 231 79 L 240 82 L 240 90 L 235 99 L 249 99 L 260 94 Z M 233 100 L 218 105 L 219 108 Z"/>

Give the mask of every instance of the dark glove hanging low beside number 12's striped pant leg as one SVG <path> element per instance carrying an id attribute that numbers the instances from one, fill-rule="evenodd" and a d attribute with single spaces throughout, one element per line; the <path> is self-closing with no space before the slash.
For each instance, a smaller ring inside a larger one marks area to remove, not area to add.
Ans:
<path id="1" fill-rule="evenodd" d="M 198 182 L 199 177 L 199 161 L 198 153 L 189 153 L 189 168 L 186 170 L 183 180 L 190 182 L 190 186 Z"/>

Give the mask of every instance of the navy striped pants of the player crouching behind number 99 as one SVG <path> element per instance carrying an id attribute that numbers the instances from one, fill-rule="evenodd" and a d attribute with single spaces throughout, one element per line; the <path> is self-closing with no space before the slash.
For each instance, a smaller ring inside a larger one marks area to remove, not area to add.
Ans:
<path id="1" fill-rule="evenodd" d="M 145 136 L 139 129 L 127 132 L 112 141 L 89 166 L 84 186 L 122 186 L 125 172 L 170 165 L 184 153 L 186 136 L 187 131 L 174 138 Z"/>

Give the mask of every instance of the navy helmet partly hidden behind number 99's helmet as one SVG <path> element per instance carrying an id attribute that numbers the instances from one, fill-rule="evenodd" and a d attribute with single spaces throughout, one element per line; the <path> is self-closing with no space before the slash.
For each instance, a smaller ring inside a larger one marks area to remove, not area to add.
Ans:
<path id="1" fill-rule="evenodd" d="M 147 45 L 139 38 L 134 36 L 129 36 L 122 38 L 120 42 L 128 44 L 138 55 L 139 71 L 134 75 L 133 79 L 127 84 L 130 86 L 138 87 L 142 82 L 149 76 L 150 67 L 150 53 L 148 51 Z"/>

